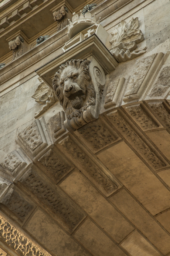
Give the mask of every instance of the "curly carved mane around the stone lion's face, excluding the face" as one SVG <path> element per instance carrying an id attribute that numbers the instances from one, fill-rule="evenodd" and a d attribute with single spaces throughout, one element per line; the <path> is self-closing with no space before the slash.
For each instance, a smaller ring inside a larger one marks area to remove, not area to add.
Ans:
<path id="1" fill-rule="evenodd" d="M 92 86 L 91 78 L 88 73 L 89 69 L 89 60 L 70 60 L 67 61 L 65 64 L 62 64 L 58 70 L 58 72 L 55 73 L 54 79 L 52 81 L 52 86 L 54 88 L 55 94 L 59 99 L 60 104 L 62 105 L 64 111 L 66 112 L 67 118 L 71 119 L 74 116 L 75 117 L 80 117 L 82 112 L 87 109 L 88 106 L 95 105 L 95 90 Z M 69 100 L 64 96 L 63 93 L 63 87 L 59 85 L 59 79 L 62 74 L 62 71 L 67 68 L 68 66 L 73 66 L 74 68 L 81 69 L 81 72 L 84 75 L 84 78 L 86 79 L 86 89 L 87 89 L 87 100 L 86 100 L 86 105 L 83 106 L 81 109 L 78 109 L 74 111 L 73 108 L 67 108 Z"/>

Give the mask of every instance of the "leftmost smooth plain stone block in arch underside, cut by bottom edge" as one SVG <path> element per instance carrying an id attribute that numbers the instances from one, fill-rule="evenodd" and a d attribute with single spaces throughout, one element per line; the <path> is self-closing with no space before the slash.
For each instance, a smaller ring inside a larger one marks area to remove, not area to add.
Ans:
<path id="1" fill-rule="evenodd" d="M 91 256 L 85 248 L 65 233 L 54 220 L 37 210 L 25 226 L 35 239 L 56 256 Z"/>

